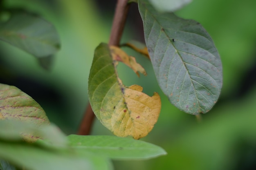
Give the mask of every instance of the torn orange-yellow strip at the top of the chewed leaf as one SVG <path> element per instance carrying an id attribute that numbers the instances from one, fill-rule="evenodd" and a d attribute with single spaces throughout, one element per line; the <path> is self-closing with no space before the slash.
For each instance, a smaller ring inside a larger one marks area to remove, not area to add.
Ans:
<path id="1" fill-rule="evenodd" d="M 144 75 L 147 75 L 145 69 L 136 62 L 135 57 L 129 56 L 128 54 L 126 54 L 126 52 L 124 52 L 117 46 L 110 46 L 110 51 L 112 59 L 114 61 L 123 62 L 124 64 L 132 68 L 132 70 L 138 75 L 138 77 L 138 71 Z"/>

